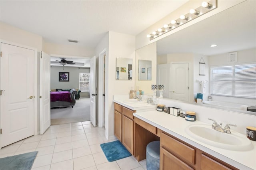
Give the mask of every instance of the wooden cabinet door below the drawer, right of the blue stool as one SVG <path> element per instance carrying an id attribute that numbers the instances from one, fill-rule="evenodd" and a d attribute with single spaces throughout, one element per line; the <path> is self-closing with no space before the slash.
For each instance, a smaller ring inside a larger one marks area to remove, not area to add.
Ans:
<path id="1" fill-rule="evenodd" d="M 179 158 L 160 147 L 160 170 L 194 170 Z"/>

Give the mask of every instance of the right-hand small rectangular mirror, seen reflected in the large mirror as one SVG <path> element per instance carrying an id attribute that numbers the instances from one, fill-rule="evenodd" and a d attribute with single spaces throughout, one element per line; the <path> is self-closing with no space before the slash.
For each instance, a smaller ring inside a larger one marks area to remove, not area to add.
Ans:
<path id="1" fill-rule="evenodd" d="M 151 60 L 138 60 L 138 79 L 151 80 L 152 79 L 152 61 Z"/>

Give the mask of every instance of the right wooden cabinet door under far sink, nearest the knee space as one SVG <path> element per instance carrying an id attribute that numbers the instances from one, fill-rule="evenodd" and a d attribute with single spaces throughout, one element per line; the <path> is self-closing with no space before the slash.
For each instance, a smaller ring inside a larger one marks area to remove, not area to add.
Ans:
<path id="1" fill-rule="evenodd" d="M 133 120 L 122 116 L 122 143 L 126 149 L 133 155 Z"/>

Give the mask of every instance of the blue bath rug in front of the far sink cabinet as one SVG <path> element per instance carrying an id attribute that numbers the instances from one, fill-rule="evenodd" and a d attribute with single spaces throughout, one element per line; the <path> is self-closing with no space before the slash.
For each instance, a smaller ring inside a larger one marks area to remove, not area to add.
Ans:
<path id="1" fill-rule="evenodd" d="M 132 155 L 119 140 L 100 144 L 100 147 L 102 148 L 108 162 L 126 158 Z"/>

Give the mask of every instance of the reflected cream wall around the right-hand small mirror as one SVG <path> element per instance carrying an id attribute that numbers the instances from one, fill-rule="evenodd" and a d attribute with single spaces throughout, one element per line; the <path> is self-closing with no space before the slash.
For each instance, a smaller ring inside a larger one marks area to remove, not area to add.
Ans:
<path id="1" fill-rule="evenodd" d="M 145 47 L 135 51 L 135 86 L 143 90 L 145 94 L 152 94 L 151 85 L 156 85 L 156 43 L 151 43 Z M 152 61 L 152 79 L 151 80 L 138 80 L 139 69 L 138 60 L 151 60 Z M 135 88 L 135 87 L 134 87 Z M 135 89 L 134 89 L 135 90 Z M 136 89 L 137 90 L 137 89 Z"/>

